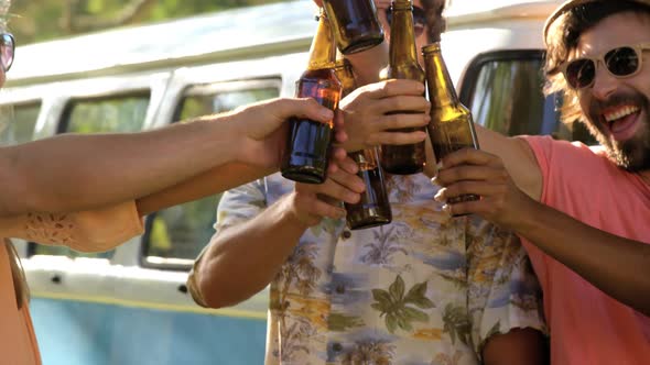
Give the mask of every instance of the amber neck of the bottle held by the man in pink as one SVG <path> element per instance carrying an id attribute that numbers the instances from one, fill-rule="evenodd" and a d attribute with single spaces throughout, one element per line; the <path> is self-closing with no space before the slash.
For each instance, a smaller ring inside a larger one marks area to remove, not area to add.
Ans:
<path id="1" fill-rule="evenodd" d="M 440 47 L 424 51 L 424 64 L 431 103 L 437 108 L 457 104 L 458 96 Z"/>

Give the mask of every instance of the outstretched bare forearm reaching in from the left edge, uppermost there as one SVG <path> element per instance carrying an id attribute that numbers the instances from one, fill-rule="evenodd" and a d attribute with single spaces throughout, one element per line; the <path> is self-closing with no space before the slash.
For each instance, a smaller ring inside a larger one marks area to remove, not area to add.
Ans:
<path id="1" fill-rule="evenodd" d="M 93 209 L 160 191 L 235 159 L 238 146 L 228 124 L 69 134 L 4 147 L 0 215 Z"/>

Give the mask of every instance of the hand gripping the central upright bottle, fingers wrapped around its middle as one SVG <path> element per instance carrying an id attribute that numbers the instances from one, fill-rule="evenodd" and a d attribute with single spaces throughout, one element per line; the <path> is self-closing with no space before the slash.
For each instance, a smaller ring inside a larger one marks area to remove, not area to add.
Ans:
<path id="1" fill-rule="evenodd" d="M 429 123 L 430 103 L 424 86 L 413 80 L 386 80 L 357 88 L 340 101 L 337 121 L 345 121 L 346 151 L 359 151 L 380 144 L 413 144 L 424 141 L 426 132 L 393 132 L 403 128 L 422 128 Z M 410 114 L 389 114 L 412 111 Z M 419 112 L 419 113 L 418 113 Z"/>

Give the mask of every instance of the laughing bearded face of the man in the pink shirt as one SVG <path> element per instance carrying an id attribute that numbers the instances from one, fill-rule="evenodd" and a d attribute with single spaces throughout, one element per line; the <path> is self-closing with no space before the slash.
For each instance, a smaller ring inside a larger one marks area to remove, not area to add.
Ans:
<path id="1" fill-rule="evenodd" d="M 573 58 L 599 55 L 622 45 L 650 43 L 650 16 L 617 13 L 585 31 Z M 650 169 L 650 51 L 641 69 L 617 78 L 598 63 L 594 84 L 578 90 L 586 124 L 618 166 L 630 172 Z"/>

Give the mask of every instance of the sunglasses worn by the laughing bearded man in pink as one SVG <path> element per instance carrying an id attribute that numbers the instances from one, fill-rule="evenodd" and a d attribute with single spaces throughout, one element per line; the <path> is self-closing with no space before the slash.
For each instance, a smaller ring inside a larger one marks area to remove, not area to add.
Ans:
<path id="1" fill-rule="evenodd" d="M 598 63 L 605 65 L 607 71 L 616 78 L 637 75 L 641 69 L 643 51 L 647 49 L 650 49 L 650 43 L 620 46 L 595 57 L 581 57 L 566 62 L 560 70 L 571 88 L 584 89 L 594 85 Z"/>

